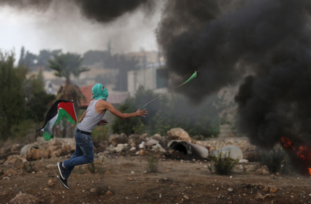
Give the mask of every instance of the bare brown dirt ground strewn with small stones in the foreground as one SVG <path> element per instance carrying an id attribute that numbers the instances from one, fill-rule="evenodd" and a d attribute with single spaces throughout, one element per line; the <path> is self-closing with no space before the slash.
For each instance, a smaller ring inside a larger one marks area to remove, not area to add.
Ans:
<path id="1" fill-rule="evenodd" d="M 221 176 L 207 168 L 210 161 L 163 155 L 155 173 L 146 172 L 148 155 L 110 155 L 100 165 L 95 159 L 98 172 L 76 167 L 65 189 L 56 178 L 56 163 L 69 156 L 36 160 L 31 173 L 2 175 L 0 204 L 19 192 L 42 204 L 311 204 L 309 177 L 239 170 Z"/>

